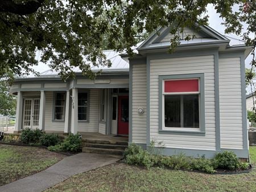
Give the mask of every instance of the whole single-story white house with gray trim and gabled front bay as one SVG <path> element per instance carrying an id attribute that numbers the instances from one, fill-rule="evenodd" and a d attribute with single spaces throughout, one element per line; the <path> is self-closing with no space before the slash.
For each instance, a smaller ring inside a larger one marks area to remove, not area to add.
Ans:
<path id="1" fill-rule="evenodd" d="M 228 150 L 248 158 L 245 58 L 251 47 L 201 26 L 180 32 L 170 54 L 169 31 L 159 28 L 133 57 L 105 51 L 113 64 L 95 81 L 79 70 L 67 82 L 51 72 L 17 78 L 10 90 L 18 95 L 15 131 L 127 135 L 144 149 L 154 140 L 163 155 L 212 158 Z M 188 34 L 196 38 L 185 41 Z"/>

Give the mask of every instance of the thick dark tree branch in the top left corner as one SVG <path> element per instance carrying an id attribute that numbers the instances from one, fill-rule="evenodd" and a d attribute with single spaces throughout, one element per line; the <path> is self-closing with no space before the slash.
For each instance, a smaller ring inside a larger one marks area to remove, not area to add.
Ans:
<path id="1" fill-rule="evenodd" d="M 0 12 L 11 12 L 17 15 L 28 15 L 36 12 L 44 0 L 31 0 L 24 3 L 15 3 L 13 0 L 0 0 Z"/>

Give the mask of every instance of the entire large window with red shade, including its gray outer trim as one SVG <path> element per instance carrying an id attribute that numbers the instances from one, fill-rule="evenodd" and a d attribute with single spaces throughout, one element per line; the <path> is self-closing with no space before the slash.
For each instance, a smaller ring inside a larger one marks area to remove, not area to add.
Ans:
<path id="1" fill-rule="evenodd" d="M 159 133 L 205 134 L 204 73 L 159 76 Z"/>

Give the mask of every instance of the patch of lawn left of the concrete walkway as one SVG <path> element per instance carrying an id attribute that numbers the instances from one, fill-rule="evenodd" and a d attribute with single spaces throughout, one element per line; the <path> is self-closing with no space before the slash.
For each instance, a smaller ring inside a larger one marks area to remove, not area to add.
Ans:
<path id="1" fill-rule="evenodd" d="M 0 144 L 0 186 L 40 172 L 63 157 L 47 149 Z"/>

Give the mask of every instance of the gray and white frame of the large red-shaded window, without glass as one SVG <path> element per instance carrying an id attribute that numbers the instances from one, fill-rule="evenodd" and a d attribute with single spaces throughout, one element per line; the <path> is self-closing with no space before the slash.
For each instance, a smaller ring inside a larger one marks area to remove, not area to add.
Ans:
<path id="1" fill-rule="evenodd" d="M 172 80 L 199 80 L 199 91 L 164 93 L 164 81 Z M 164 124 L 164 95 L 199 95 L 199 128 L 165 127 Z M 175 74 L 159 76 L 159 133 L 181 133 L 188 135 L 205 134 L 205 93 L 204 73 Z"/>

